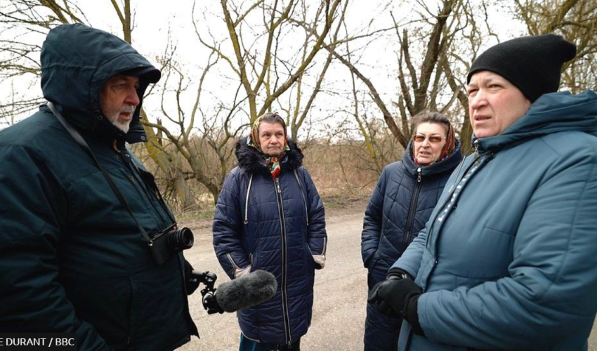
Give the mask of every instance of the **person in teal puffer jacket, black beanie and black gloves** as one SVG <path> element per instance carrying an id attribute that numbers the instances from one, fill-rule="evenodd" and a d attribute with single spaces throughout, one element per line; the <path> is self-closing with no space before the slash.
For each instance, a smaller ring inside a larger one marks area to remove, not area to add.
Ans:
<path id="1" fill-rule="evenodd" d="M 553 93 L 574 56 L 574 44 L 548 34 L 506 41 L 473 63 L 475 152 L 370 296 L 405 318 L 400 350 L 587 349 L 597 95 Z"/>

